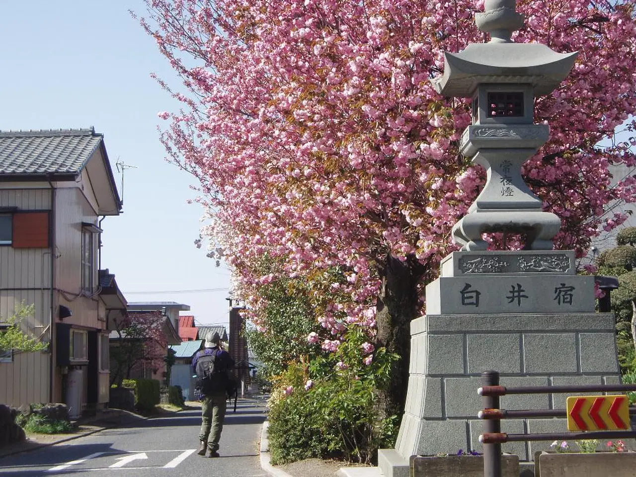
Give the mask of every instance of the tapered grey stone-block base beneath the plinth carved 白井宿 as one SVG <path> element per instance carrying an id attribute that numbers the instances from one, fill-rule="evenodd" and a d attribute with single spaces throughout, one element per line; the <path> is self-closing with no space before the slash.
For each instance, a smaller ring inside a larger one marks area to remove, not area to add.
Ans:
<path id="1" fill-rule="evenodd" d="M 411 323 L 406 411 L 396 452 L 410 455 L 481 451 L 483 371 L 501 384 L 605 384 L 619 380 L 612 314 L 427 315 Z M 565 408 L 563 394 L 503 396 L 511 410 Z M 509 433 L 563 432 L 565 419 L 503 420 Z M 550 442 L 508 443 L 504 452 L 531 460 Z M 383 469 L 385 475 L 390 475 Z"/>

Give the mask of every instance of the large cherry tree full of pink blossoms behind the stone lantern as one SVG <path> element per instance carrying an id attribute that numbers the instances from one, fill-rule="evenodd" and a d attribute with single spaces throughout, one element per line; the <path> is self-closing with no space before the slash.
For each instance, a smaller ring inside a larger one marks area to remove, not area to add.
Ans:
<path id="1" fill-rule="evenodd" d="M 181 87 L 162 82 L 183 102 L 160 113 L 162 138 L 200 180 L 210 255 L 233 267 L 257 324 L 259 286 L 280 276 L 317 284 L 330 347 L 361 324 L 404 357 L 387 394 L 399 410 L 421 287 L 455 249 L 450 229 L 485 181 L 458 153 L 469 104 L 440 97 L 429 81 L 445 50 L 485 40 L 473 21 L 483 1 L 147 3 L 142 25 L 183 78 Z M 544 209 L 562 218 L 556 247 L 579 257 L 598 230 L 625 219 L 605 216 L 607 205 L 636 197 L 633 177 L 612 187 L 608 170 L 636 163 L 633 141 L 596 146 L 625 121 L 633 130 L 634 3 L 517 2 L 527 20 L 515 41 L 579 51 L 562 85 L 536 99 L 550 140 L 523 169 Z M 340 279 L 321 281 L 334 268 Z"/>

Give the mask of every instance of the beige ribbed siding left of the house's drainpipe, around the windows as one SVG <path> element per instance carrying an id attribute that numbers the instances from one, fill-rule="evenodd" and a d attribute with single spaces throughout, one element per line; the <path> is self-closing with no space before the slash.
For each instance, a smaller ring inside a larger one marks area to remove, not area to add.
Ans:
<path id="1" fill-rule="evenodd" d="M 51 189 L 46 183 L 0 183 L 0 207 L 19 211 L 50 211 Z M 0 321 L 20 303 L 34 305 L 23 329 L 43 340 L 51 337 L 51 249 L 0 246 Z M 50 396 L 50 352 L 17 353 L 0 363 L 0 403 L 20 406 L 42 403 Z"/>

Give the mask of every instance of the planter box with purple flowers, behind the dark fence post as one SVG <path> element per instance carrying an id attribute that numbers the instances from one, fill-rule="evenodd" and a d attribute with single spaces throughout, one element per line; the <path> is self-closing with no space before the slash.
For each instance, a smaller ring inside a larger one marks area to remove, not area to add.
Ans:
<path id="1" fill-rule="evenodd" d="M 410 477 L 483 477 L 483 455 L 412 455 L 409 467 Z M 502 455 L 501 474 L 519 477 L 519 457 Z"/>

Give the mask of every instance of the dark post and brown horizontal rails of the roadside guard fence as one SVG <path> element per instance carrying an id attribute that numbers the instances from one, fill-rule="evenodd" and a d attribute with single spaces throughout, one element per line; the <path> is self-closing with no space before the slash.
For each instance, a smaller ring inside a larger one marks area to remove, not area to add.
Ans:
<path id="1" fill-rule="evenodd" d="M 626 392 L 636 391 L 636 384 L 620 385 L 565 385 L 565 386 L 516 386 L 499 385 L 497 371 L 481 374 L 483 384 L 478 393 L 482 397 L 483 410 L 479 417 L 484 420 L 483 434 L 483 474 L 484 477 L 501 477 L 501 444 L 519 441 L 551 441 L 567 439 L 620 439 L 636 437 L 636 431 L 586 431 L 554 432 L 547 434 L 506 434 L 501 432 L 501 420 L 506 418 L 567 417 L 565 409 L 504 410 L 499 408 L 499 397 L 507 394 L 552 394 L 556 392 Z M 630 408 L 630 415 L 636 415 L 636 408 Z"/>

